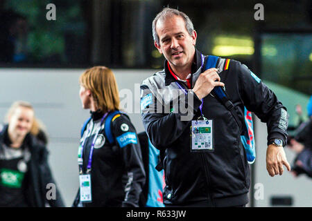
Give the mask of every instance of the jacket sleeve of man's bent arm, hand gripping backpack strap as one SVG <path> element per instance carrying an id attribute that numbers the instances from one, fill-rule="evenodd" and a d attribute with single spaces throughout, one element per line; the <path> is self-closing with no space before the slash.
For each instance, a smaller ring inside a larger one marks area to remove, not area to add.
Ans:
<path id="1" fill-rule="evenodd" d="M 150 142 L 162 150 L 182 135 L 202 102 L 192 90 L 188 90 L 178 102 L 179 107 L 186 107 L 186 113 L 175 109 L 170 111 L 168 106 L 164 105 L 162 97 L 158 95 L 157 91 L 152 91 L 147 85 L 141 84 L 142 122 Z"/>

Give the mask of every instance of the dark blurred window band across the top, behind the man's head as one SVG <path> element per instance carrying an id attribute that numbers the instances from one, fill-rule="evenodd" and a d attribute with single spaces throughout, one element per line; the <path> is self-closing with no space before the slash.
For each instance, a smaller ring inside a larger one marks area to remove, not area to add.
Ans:
<path id="1" fill-rule="evenodd" d="M 237 59 L 261 79 L 312 94 L 312 1 L 1 0 L 0 66 L 162 68 L 151 23 L 163 7 L 192 19 L 197 48 Z M 46 5 L 56 6 L 56 21 Z M 254 5 L 264 6 L 264 21 Z"/>

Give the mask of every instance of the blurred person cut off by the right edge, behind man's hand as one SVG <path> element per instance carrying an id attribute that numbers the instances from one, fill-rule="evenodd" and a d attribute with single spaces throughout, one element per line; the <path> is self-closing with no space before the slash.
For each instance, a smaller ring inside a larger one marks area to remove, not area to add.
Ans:
<path id="1" fill-rule="evenodd" d="M 301 174 L 312 177 L 312 96 L 307 108 L 308 121 L 300 124 L 294 137 L 288 138 L 288 147 L 297 154 L 291 170 L 295 177 Z"/>

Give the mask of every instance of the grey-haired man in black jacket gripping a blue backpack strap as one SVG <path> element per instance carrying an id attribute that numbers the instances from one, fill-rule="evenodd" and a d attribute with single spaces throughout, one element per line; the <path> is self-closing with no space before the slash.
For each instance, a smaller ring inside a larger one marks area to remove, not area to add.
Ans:
<path id="1" fill-rule="evenodd" d="M 161 151 L 164 204 L 244 206 L 250 187 L 240 139 L 244 106 L 268 125 L 271 176 L 281 175 L 283 164 L 291 170 L 284 153 L 286 108 L 239 61 L 218 58 L 217 68 L 203 72 L 205 56 L 195 48 L 197 34 L 183 12 L 164 8 L 153 21 L 153 37 L 166 61 L 164 70 L 141 84 L 141 117 Z M 217 86 L 225 88 L 239 121 L 211 94 Z"/>

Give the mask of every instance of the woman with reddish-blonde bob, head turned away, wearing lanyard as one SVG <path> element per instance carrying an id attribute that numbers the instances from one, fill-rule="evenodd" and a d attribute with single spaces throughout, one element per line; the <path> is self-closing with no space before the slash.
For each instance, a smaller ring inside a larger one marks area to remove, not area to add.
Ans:
<path id="1" fill-rule="evenodd" d="M 145 171 L 137 132 L 119 111 L 112 70 L 89 68 L 79 78 L 80 100 L 91 117 L 78 149 L 80 188 L 73 206 L 139 206 Z"/>

